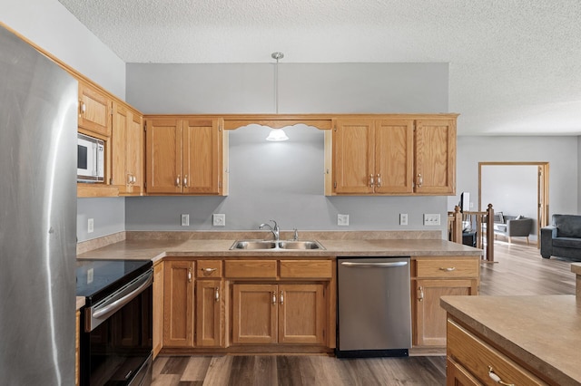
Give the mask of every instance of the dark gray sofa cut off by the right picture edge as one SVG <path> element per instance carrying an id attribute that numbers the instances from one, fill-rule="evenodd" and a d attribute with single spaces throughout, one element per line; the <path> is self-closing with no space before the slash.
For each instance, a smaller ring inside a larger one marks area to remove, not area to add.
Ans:
<path id="1" fill-rule="evenodd" d="M 541 256 L 581 261 L 581 216 L 553 215 L 552 225 L 541 228 Z"/>

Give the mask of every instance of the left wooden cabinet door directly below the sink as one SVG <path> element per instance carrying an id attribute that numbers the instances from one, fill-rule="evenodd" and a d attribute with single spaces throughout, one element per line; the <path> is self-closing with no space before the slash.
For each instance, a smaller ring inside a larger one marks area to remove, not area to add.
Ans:
<path id="1" fill-rule="evenodd" d="M 277 342 L 277 285 L 232 285 L 232 343 Z"/>

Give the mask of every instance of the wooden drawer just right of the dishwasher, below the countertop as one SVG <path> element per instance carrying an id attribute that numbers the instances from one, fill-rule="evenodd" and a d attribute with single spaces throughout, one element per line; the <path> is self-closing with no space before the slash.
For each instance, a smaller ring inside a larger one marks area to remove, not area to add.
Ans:
<path id="1" fill-rule="evenodd" d="M 478 259 L 470 258 L 430 258 L 416 261 L 418 277 L 478 277 Z"/>

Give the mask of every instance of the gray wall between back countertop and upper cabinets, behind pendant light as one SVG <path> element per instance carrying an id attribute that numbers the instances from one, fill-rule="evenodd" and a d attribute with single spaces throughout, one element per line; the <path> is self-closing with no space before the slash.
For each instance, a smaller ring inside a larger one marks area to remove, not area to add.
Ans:
<path id="1" fill-rule="evenodd" d="M 267 142 L 269 130 L 231 131 L 230 196 L 126 198 L 127 230 L 257 229 L 270 219 L 285 230 L 419 229 L 422 213 L 446 205 L 441 197 L 325 197 L 323 132 L 298 125 L 285 129 L 290 140 Z M 226 215 L 226 227 L 212 227 L 213 213 Z M 399 213 L 409 214 L 408 226 L 399 226 Z M 338 214 L 350 215 L 349 227 L 337 225 Z"/>

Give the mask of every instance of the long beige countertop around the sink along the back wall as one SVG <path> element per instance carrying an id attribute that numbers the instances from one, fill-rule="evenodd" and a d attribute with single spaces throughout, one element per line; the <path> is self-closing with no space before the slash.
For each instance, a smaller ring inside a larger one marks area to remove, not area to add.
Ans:
<path id="1" fill-rule="evenodd" d="M 196 232 L 192 232 L 193 235 Z M 77 258 L 103 259 L 151 259 L 153 262 L 164 256 L 178 257 L 240 257 L 240 256 L 289 256 L 289 257 L 334 257 L 334 256 L 482 256 L 481 249 L 452 243 L 438 238 L 377 238 L 378 232 L 352 232 L 352 235 L 336 236 L 332 233 L 310 233 L 300 235 L 300 240 L 315 239 L 325 249 L 320 250 L 230 250 L 237 239 L 271 239 L 269 234 L 259 233 L 214 233 L 213 238 L 187 238 L 176 232 L 145 232 L 129 234 L 122 241 L 80 253 Z M 389 232 L 388 232 L 389 233 Z M 393 236 L 394 232 L 388 236 Z M 424 234 L 426 232 L 423 232 Z M 174 235 L 175 234 L 175 235 Z M 356 236 L 376 238 L 356 238 Z M 203 235 L 202 235 L 203 236 Z M 208 233 L 206 233 L 208 236 Z M 231 238 L 218 238 L 218 237 Z M 323 237 L 332 238 L 323 238 Z M 422 235 L 420 235 L 422 236 Z M 430 236 L 428 234 L 428 236 Z M 281 236 L 281 240 L 286 239 Z"/>

